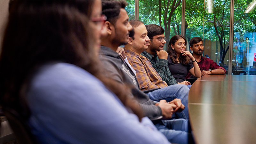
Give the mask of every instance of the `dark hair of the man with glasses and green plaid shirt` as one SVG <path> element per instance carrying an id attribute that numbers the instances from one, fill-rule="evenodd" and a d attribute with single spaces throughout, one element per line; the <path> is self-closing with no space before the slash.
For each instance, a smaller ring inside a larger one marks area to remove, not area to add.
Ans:
<path id="1" fill-rule="evenodd" d="M 164 28 L 156 24 L 145 25 L 148 31 L 148 38 L 152 39 L 153 36 L 164 34 Z"/>

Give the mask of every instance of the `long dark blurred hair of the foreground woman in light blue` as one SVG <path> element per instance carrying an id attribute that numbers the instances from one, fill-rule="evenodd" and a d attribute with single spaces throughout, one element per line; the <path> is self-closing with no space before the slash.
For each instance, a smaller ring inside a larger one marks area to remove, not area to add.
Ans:
<path id="1" fill-rule="evenodd" d="M 126 87 L 101 75 L 90 27 L 94 0 L 12 1 L 1 50 L 0 104 L 27 117 L 26 92 L 35 71 L 47 62 L 62 61 L 99 78 L 125 106 L 142 117 L 128 99 Z"/>

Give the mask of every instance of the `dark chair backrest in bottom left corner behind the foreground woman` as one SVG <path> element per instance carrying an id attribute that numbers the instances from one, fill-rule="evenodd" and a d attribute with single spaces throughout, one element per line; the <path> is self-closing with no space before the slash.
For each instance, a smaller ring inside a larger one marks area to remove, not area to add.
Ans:
<path id="1" fill-rule="evenodd" d="M 3 111 L 20 144 L 38 143 L 32 135 L 27 122 L 20 116 L 17 111 L 9 108 L 3 108 Z"/>

